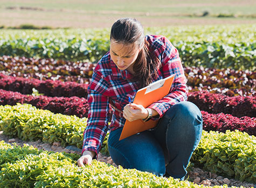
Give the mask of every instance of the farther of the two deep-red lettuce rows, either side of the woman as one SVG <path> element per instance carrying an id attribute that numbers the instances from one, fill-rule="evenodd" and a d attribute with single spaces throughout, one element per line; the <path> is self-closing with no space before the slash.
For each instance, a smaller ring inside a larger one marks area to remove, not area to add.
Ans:
<path id="1" fill-rule="evenodd" d="M 87 98 L 88 84 L 75 82 L 61 82 L 39 79 L 29 79 L 13 77 L 0 74 L 0 89 L 7 91 L 17 91 L 22 94 L 32 94 L 33 88 L 39 93 L 53 97 L 83 97 Z M 197 104 L 200 110 L 210 113 L 229 113 L 237 117 L 255 117 L 256 99 L 255 97 L 234 96 L 228 97 L 220 94 L 211 94 L 207 91 L 197 91 L 189 93 L 189 101 Z"/>

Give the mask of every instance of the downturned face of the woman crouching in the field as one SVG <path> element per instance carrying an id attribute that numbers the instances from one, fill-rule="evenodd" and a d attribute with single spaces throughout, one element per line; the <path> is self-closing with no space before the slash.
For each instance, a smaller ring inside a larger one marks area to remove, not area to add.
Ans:
<path id="1" fill-rule="evenodd" d="M 122 42 L 110 40 L 110 56 L 120 70 L 127 68 L 133 70 L 133 63 L 137 59 L 140 50 L 141 48 L 138 45 L 124 45 Z"/>

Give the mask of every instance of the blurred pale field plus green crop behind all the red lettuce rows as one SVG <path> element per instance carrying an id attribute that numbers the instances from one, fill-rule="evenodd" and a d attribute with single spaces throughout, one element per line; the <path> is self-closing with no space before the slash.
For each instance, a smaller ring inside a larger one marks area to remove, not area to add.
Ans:
<path id="1" fill-rule="evenodd" d="M 114 21 L 135 17 L 146 34 L 165 35 L 185 66 L 254 71 L 255 10 L 252 0 L 1 0 L 0 56 L 95 63 L 108 51 Z"/>

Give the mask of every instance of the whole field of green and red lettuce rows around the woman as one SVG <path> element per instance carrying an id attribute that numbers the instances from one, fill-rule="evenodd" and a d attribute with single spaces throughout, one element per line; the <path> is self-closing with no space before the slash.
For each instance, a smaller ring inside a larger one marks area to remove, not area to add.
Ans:
<path id="1" fill-rule="evenodd" d="M 0 131 L 82 147 L 87 88 L 109 30 L 0 30 Z M 190 165 L 256 184 L 256 25 L 146 28 L 177 47 L 203 114 Z M 112 115 L 112 112 L 109 112 Z M 101 153 L 108 154 L 108 135 Z M 206 187 L 79 155 L 0 142 L 0 187 Z M 214 186 L 214 187 L 228 187 Z"/>

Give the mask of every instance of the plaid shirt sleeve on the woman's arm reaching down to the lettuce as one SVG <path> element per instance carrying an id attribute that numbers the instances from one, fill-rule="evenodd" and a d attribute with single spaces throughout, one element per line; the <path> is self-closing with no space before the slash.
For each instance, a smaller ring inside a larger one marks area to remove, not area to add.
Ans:
<path id="1" fill-rule="evenodd" d="M 94 72 L 88 86 L 88 120 L 84 131 L 82 153 L 94 151 L 96 158 L 108 131 L 109 97 L 108 83 L 101 73 Z"/>

